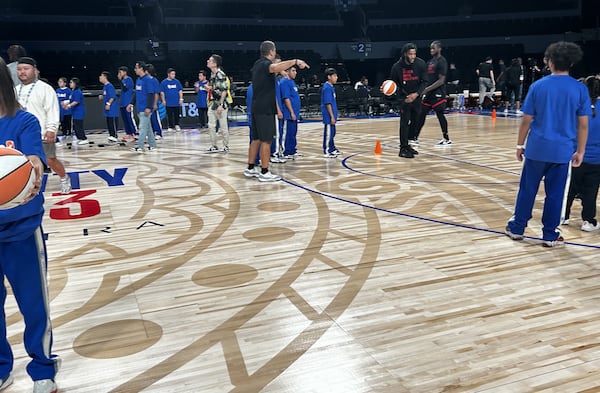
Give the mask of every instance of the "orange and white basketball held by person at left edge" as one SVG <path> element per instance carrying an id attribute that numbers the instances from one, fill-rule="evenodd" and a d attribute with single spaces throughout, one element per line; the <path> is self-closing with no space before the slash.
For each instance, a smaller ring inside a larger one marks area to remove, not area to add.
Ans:
<path id="1" fill-rule="evenodd" d="M 20 205 L 33 187 L 33 164 L 16 149 L 0 146 L 0 210 Z"/>

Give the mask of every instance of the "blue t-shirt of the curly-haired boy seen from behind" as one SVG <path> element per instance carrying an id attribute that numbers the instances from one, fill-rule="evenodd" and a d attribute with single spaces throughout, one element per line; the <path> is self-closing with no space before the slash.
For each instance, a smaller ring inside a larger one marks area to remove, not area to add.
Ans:
<path id="1" fill-rule="evenodd" d="M 569 75 L 548 75 L 531 85 L 523 103 L 531 115 L 525 157 L 568 163 L 577 150 L 577 117 L 591 114 L 585 85 Z"/>

